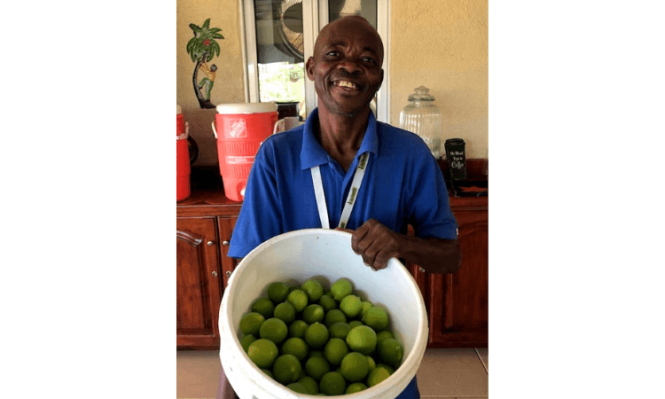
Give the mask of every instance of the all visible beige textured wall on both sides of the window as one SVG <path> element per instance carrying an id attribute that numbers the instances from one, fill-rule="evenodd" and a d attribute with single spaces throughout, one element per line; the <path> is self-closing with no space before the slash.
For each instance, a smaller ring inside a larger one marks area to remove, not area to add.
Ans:
<path id="1" fill-rule="evenodd" d="M 380 1 L 380 0 L 379 0 Z M 468 158 L 483 158 L 489 144 L 489 0 L 391 0 L 390 122 L 413 89 L 424 85 L 442 109 L 442 139 L 460 137 Z M 210 122 L 215 110 L 200 109 L 192 89 L 194 63 L 185 51 L 190 23 L 210 18 L 222 28 L 222 51 L 211 93 L 214 104 L 245 102 L 239 0 L 177 0 L 176 104 L 183 106 L 190 134 L 200 146 L 196 165 L 217 162 Z"/>

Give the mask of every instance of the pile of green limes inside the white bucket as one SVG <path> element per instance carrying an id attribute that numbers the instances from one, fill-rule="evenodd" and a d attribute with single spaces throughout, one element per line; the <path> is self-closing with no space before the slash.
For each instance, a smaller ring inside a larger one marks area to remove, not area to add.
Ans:
<path id="1" fill-rule="evenodd" d="M 346 278 L 325 290 L 273 282 L 240 319 L 240 345 L 270 378 L 295 392 L 348 395 L 387 379 L 402 363 L 402 344 L 386 310 L 354 294 Z"/>

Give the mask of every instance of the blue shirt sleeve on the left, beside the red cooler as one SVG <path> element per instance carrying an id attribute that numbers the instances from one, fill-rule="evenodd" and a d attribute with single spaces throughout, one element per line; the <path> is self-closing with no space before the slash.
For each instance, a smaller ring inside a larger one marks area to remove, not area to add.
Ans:
<path id="1" fill-rule="evenodd" d="M 279 224 L 279 198 L 274 163 L 270 162 L 270 149 L 259 149 L 249 172 L 245 199 L 236 222 L 229 246 L 229 256 L 242 258 L 256 246 L 281 234 Z"/>

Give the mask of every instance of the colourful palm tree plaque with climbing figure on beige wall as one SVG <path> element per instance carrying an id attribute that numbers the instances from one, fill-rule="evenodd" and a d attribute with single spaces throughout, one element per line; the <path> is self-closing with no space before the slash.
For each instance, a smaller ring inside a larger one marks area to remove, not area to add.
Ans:
<path id="1" fill-rule="evenodd" d="M 222 29 L 210 27 L 209 18 L 203 22 L 201 27 L 194 24 L 190 24 L 190 27 L 194 31 L 194 37 L 187 43 L 187 52 L 192 57 L 192 62 L 196 63 L 192 75 L 194 93 L 201 108 L 215 108 L 215 104 L 210 102 L 210 91 L 213 90 L 215 83 L 217 66 L 215 64 L 208 66 L 207 63 L 212 61 L 215 56 L 219 56 L 220 47 L 215 39 L 224 38 L 219 33 Z M 204 74 L 201 80 L 199 80 L 199 71 Z"/>

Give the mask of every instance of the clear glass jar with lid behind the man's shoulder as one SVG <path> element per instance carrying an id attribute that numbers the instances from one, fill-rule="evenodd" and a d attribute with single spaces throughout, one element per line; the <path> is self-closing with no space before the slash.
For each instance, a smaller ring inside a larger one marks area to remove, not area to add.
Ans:
<path id="1" fill-rule="evenodd" d="M 400 113 L 400 128 L 422 137 L 435 159 L 440 159 L 443 117 L 429 89 L 420 86 L 409 96 L 409 104 Z"/>

